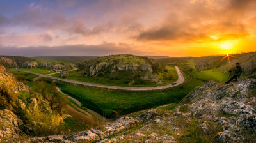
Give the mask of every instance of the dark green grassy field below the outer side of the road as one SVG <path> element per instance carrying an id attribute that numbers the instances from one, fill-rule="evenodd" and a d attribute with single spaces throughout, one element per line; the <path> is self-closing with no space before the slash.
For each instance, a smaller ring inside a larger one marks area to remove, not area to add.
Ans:
<path id="1" fill-rule="evenodd" d="M 100 89 L 96 87 L 80 87 L 57 82 L 63 93 L 73 96 L 84 107 L 95 110 L 99 114 L 103 112 L 106 117 L 115 117 L 118 114 L 129 114 L 138 110 L 157 107 L 159 105 L 179 102 L 196 86 L 204 82 L 187 77 L 183 85 L 163 91 L 116 91 Z"/>

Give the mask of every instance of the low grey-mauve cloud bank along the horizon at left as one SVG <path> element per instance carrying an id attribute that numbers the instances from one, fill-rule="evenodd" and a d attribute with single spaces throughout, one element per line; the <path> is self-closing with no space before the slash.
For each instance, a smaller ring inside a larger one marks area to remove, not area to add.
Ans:
<path id="1" fill-rule="evenodd" d="M 55 47 L 0 47 L 0 55 L 13 56 L 104 56 L 120 53 L 139 55 L 154 54 L 153 52 L 141 51 L 124 43 L 119 43 L 118 45 L 114 43 L 102 43 L 100 45 L 62 45 Z"/>

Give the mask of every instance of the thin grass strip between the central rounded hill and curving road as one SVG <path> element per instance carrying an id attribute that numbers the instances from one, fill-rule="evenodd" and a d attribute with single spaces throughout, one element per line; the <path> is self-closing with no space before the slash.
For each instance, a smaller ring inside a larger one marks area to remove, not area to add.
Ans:
<path id="1" fill-rule="evenodd" d="M 163 86 L 166 84 L 171 84 L 172 82 L 175 82 L 178 79 L 178 75 L 177 72 L 175 70 L 175 68 L 172 66 L 168 66 L 168 73 L 170 73 L 172 75 L 172 79 L 171 80 L 165 80 L 165 84 L 156 84 L 156 83 L 152 83 L 152 82 L 143 82 L 141 84 L 135 84 L 131 87 L 154 87 L 154 86 Z M 107 77 L 86 77 L 84 75 L 81 75 L 81 72 L 77 72 L 77 71 L 70 71 L 69 72 L 69 77 L 65 77 L 65 79 L 69 79 L 69 80 L 76 80 L 76 81 L 81 81 L 81 82 L 89 82 L 89 83 L 94 83 L 94 84 L 104 84 L 104 85 L 110 85 L 110 86 L 129 86 L 128 83 L 129 81 L 133 80 L 131 79 L 129 76 L 125 76 L 125 75 L 119 75 L 119 79 L 109 79 Z M 60 74 L 55 74 L 52 75 L 52 77 L 60 77 Z M 157 77 L 159 77 L 159 79 L 163 78 L 163 73 L 159 73 L 157 74 Z M 62 77 L 60 77 L 62 78 Z M 136 79 L 134 79 L 136 80 Z"/>

